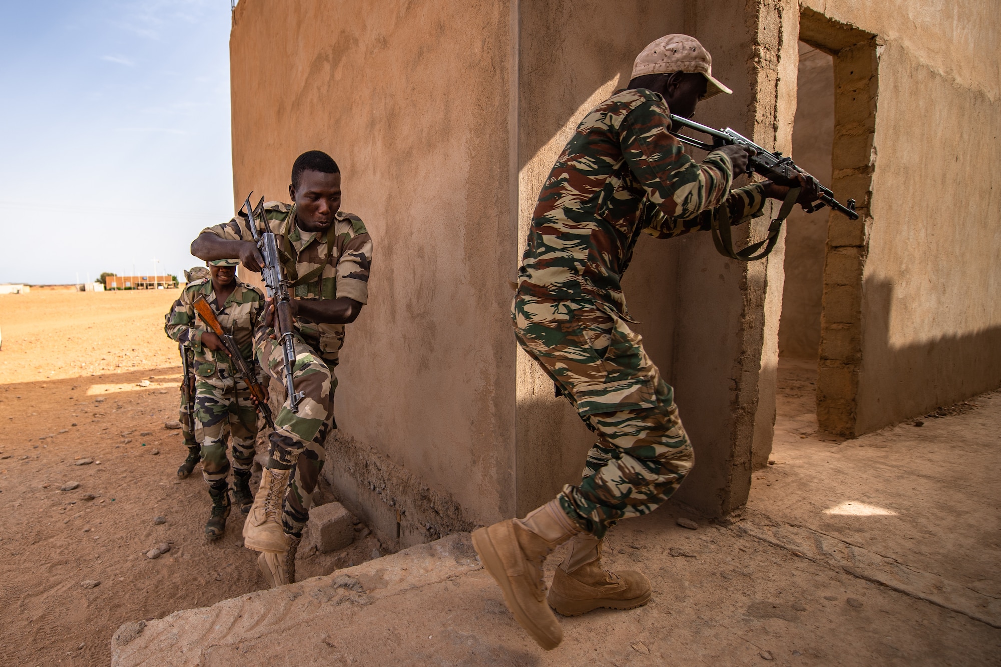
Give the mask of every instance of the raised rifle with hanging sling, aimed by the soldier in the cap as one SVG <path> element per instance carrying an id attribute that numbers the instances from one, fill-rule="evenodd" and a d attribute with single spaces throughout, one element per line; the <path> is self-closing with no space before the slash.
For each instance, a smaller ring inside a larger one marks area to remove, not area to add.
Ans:
<path id="1" fill-rule="evenodd" d="M 733 242 L 730 238 L 730 220 L 729 220 L 729 209 L 724 207 L 726 211 L 723 215 L 725 220 L 722 224 L 717 224 L 714 221 L 713 224 L 713 240 L 716 243 L 717 249 L 723 254 L 733 257 L 734 259 L 740 259 L 741 261 L 752 261 L 754 259 L 761 259 L 768 255 L 775 247 L 776 242 L 779 240 L 779 231 L 782 229 L 782 221 L 786 219 L 789 215 L 792 206 L 796 203 L 796 198 L 800 194 L 799 179 L 797 174 L 803 174 L 807 178 L 810 178 L 816 183 L 818 197 L 817 201 L 810 204 L 803 204 L 803 210 L 808 213 L 813 213 L 814 211 L 820 210 L 824 206 L 830 206 L 834 210 L 847 215 L 852 220 L 859 219 L 859 214 L 855 210 L 855 199 L 849 199 L 848 205 L 845 205 L 837 200 L 834 196 L 834 192 L 830 188 L 825 187 L 812 175 L 801 169 L 793 162 L 793 158 L 789 156 L 783 156 L 779 151 L 772 152 L 759 146 L 757 143 L 747 138 L 740 132 L 730 127 L 722 130 L 713 129 L 707 125 L 697 123 L 688 118 L 683 118 L 681 116 L 676 116 L 671 114 L 671 133 L 674 134 L 680 141 L 687 143 L 690 146 L 695 146 L 696 148 L 702 148 L 703 150 L 716 150 L 720 146 L 737 145 L 744 146 L 746 148 L 752 148 L 757 151 L 756 155 L 751 155 L 748 158 L 748 170 L 760 173 L 766 178 L 772 180 L 779 185 L 788 185 L 789 194 L 786 196 L 786 200 L 782 203 L 782 208 L 779 211 L 779 216 L 772 220 L 772 225 L 768 229 L 768 237 L 757 243 L 752 243 L 743 250 L 735 251 L 733 248 Z M 690 136 L 685 136 L 680 134 L 677 130 L 679 127 L 687 127 L 693 129 L 697 132 L 702 132 L 703 134 L 708 134 L 712 141 L 700 141 L 698 139 L 693 139 Z M 762 246 L 765 249 L 759 254 L 754 254 Z"/>

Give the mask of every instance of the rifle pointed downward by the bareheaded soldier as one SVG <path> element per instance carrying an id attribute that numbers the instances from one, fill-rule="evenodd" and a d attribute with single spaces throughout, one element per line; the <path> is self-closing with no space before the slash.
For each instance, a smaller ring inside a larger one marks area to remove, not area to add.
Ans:
<path id="1" fill-rule="evenodd" d="M 292 332 L 292 305 L 291 297 L 288 295 L 288 281 L 281 269 L 277 237 L 267 228 L 267 218 L 264 216 L 264 197 L 261 197 L 260 201 L 257 202 L 256 208 L 251 208 L 250 194 L 247 195 L 246 201 L 243 203 L 243 207 L 247 209 L 247 226 L 250 227 L 250 235 L 257 243 L 257 249 L 264 257 L 261 275 L 264 278 L 264 286 L 267 287 L 267 296 L 271 299 L 271 305 L 274 307 L 274 330 L 280 339 L 281 356 L 285 362 L 285 391 L 288 393 L 288 407 L 293 413 L 298 413 L 299 403 L 305 398 L 305 394 L 302 392 L 296 394 L 295 383 L 292 382 L 295 343 Z M 264 231 L 257 230 L 254 212 L 260 215 L 261 222 L 264 223 Z"/>

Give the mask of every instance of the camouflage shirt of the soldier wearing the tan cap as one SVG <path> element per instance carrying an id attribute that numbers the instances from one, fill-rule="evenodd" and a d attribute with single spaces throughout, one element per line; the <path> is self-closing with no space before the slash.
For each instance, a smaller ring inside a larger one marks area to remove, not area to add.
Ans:
<path id="1" fill-rule="evenodd" d="M 668 113 L 644 88 L 620 90 L 588 112 L 539 194 L 520 295 L 587 294 L 625 314 L 621 280 L 641 231 L 668 238 L 709 229 L 724 203 L 735 224 L 761 214 L 763 186 L 731 191 L 730 158 L 693 160 L 669 132 Z"/>

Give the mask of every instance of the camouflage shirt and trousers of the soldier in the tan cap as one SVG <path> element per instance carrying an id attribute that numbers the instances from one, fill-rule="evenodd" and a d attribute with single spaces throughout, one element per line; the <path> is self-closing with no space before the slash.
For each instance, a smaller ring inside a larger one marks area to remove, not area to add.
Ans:
<path id="1" fill-rule="evenodd" d="M 730 189 L 727 155 L 696 162 L 670 126 L 645 89 L 588 112 L 542 188 L 519 268 L 516 338 L 598 436 L 582 483 L 559 496 L 598 538 L 660 507 L 695 464 L 674 390 L 630 326 L 622 276 L 639 235 L 708 230 L 723 206 L 746 222 L 765 203 L 761 184 Z"/>

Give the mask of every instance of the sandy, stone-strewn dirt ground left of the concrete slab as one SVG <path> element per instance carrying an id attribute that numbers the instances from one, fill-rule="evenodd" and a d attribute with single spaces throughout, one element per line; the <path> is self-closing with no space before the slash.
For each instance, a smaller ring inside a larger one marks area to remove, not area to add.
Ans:
<path id="1" fill-rule="evenodd" d="M 176 478 L 186 450 L 164 423 L 177 419 L 180 368 L 163 314 L 178 294 L 0 294 L 2 665 L 107 665 L 126 621 L 265 587 L 256 554 L 241 546 L 242 515 L 206 543 L 200 468 Z M 146 558 L 162 543 L 167 554 Z M 302 558 L 299 578 L 378 548 L 368 536 Z"/>

